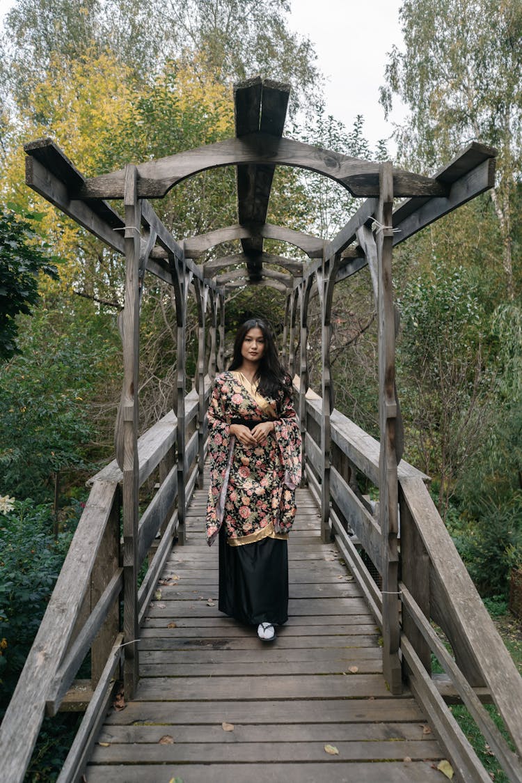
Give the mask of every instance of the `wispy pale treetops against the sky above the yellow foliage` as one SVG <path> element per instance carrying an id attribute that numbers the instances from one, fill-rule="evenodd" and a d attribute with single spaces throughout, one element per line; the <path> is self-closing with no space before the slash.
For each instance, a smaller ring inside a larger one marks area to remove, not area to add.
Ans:
<path id="1" fill-rule="evenodd" d="M 288 0 L 17 0 L 5 19 L 7 76 L 24 103 L 53 56 L 110 53 L 147 82 L 165 60 L 222 83 L 256 73 L 290 81 L 293 104 L 320 86 L 315 52 L 287 26 Z"/>

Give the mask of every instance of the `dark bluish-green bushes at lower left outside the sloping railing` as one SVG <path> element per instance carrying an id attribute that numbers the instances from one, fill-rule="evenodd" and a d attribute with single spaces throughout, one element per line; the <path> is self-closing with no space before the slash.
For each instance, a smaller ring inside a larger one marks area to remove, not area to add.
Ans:
<path id="1" fill-rule="evenodd" d="M 16 501 L 0 514 L 0 709 L 5 709 L 58 578 L 79 518 L 71 507 L 58 538 L 49 506 Z"/>

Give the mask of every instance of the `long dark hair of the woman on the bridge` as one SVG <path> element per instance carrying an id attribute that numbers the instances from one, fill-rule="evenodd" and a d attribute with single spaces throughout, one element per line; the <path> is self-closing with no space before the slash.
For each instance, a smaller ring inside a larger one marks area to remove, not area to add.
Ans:
<path id="1" fill-rule="evenodd" d="M 259 382 L 259 391 L 262 395 L 272 398 L 275 398 L 279 391 L 291 395 L 292 380 L 279 361 L 272 329 L 269 327 L 268 323 L 261 318 L 250 318 L 245 321 L 245 323 L 242 323 L 237 330 L 236 340 L 234 341 L 234 353 L 232 355 L 232 362 L 230 363 L 229 370 L 237 370 L 238 367 L 243 364 L 243 356 L 241 355 L 243 341 L 247 336 L 247 332 L 256 327 L 261 329 L 263 337 L 265 337 L 265 350 L 261 357 L 256 375 L 257 381 Z"/>

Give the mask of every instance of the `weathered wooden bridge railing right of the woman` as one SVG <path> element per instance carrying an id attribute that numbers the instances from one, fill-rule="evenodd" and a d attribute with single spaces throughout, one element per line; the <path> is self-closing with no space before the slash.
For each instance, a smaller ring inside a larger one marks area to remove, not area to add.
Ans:
<path id="1" fill-rule="evenodd" d="M 305 476 L 318 507 L 324 465 L 321 442 L 322 400 L 301 396 L 304 420 Z M 378 514 L 358 489 L 356 472 L 377 489 L 380 445 L 337 410 L 330 417 L 329 467 L 332 536 L 364 591 L 384 630 L 383 550 Z M 427 476 L 401 461 L 398 465 L 400 581 L 403 679 L 427 712 L 463 781 L 491 781 L 447 702 L 462 702 L 477 723 L 510 781 L 522 781 L 522 679 L 487 609 L 477 594 L 427 489 Z M 434 626 L 438 626 L 439 633 Z M 441 641 L 444 633 L 447 644 Z M 434 655 L 445 676 L 431 674 Z M 495 703 L 517 753 L 509 749 L 482 701 Z M 518 755 L 517 755 L 518 754 Z"/>

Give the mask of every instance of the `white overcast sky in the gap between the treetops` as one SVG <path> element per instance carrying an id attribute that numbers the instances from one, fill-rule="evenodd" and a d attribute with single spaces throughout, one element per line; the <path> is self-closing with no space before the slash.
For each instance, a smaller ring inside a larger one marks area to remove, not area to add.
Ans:
<path id="1" fill-rule="evenodd" d="M 0 18 L 11 5 L 12 0 L 0 0 Z M 325 74 L 328 114 L 347 128 L 362 114 L 372 146 L 387 139 L 393 127 L 384 121 L 379 87 L 387 52 L 394 44 L 401 49 L 401 0 L 291 0 L 291 6 L 290 27 L 311 39 Z M 391 120 L 401 122 L 404 116 L 404 108 L 397 106 Z M 394 145 L 388 149 L 393 152 Z"/>

